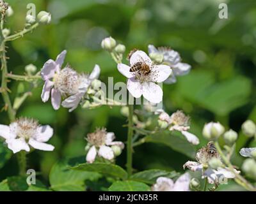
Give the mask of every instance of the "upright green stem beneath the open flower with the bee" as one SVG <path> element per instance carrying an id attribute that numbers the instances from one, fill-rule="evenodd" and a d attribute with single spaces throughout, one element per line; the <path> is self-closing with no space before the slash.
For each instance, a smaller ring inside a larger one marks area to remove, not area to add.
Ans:
<path id="1" fill-rule="evenodd" d="M 129 117 L 128 117 L 128 135 L 127 135 L 127 173 L 128 177 L 132 175 L 132 135 L 133 135 L 133 105 L 128 105 Z"/>

